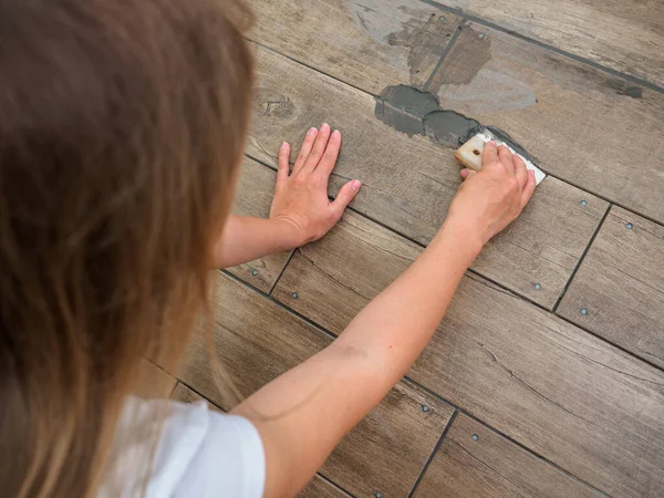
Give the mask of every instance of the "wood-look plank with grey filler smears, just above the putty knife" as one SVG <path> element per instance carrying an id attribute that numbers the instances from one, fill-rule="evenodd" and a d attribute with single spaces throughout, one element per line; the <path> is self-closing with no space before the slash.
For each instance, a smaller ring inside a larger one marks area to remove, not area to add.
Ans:
<path id="1" fill-rule="evenodd" d="M 664 221 L 664 94 L 476 24 L 430 90 L 444 107 L 507 131 L 542 169 Z"/>

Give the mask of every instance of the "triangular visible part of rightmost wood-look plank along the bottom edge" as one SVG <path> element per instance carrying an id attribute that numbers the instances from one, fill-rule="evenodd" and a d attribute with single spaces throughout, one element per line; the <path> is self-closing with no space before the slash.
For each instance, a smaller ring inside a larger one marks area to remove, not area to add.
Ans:
<path id="1" fill-rule="evenodd" d="M 605 495 L 459 414 L 414 498 L 600 496 Z"/>

